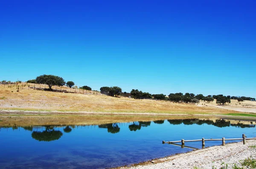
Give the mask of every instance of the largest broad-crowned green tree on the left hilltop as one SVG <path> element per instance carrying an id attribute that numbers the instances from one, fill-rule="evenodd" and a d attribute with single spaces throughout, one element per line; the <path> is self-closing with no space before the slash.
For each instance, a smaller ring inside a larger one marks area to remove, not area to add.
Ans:
<path id="1" fill-rule="evenodd" d="M 55 75 L 44 74 L 36 77 L 35 80 L 36 80 L 36 83 L 47 84 L 49 86 L 49 89 L 52 89 L 52 85 L 63 86 L 66 84 L 66 82 L 62 77 L 58 77 Z"/>

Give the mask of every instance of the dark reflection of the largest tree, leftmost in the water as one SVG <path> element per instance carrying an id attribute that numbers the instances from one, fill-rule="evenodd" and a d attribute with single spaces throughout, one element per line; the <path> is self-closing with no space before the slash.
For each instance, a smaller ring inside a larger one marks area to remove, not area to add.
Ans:
<path id="1" fill-rule="evenodd" d="M 62 132 L 55 131 L 53 126 L 45 126 L 45 130 L 43 132 L 32 132 L 32 138 L 38 141 L 58 140 L 62 135 Z"/>

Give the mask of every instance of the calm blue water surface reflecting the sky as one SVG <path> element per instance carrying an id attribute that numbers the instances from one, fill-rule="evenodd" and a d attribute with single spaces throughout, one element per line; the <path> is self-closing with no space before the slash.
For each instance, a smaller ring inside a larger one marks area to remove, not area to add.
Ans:
<path id="1" fill-rule="evenodd" d="M 112 134 L 107 126 L 75 126 L 72 131 L 64 132 L 65 127 L 55 127 L 63 135 L 54 141 L 38 141 L 32 138 L 32 132 L 23 128 L 0 131 L 1 168 L 68 168 L 98 169 L 153 158 L 160 158 L 191 149 L 162 144 L 162 140 L 192 140 L 208 138 L 255 137 L 255 128 L 236 126 L 216 127 L 208 124 L 184 125 L 170 124 L 167 120 L 160 124 L 151 122 L 150 126 L 141 126 L 140 130 L 130 131 L 128 123 L 117 123 L 120 131 Z M 130 125 L 133 123 L 130 123 Z M 135 123 L 139 124 L 139 123 Z M 105 127 L 105 128 L 104 128 Z M 135 126 L 136 127 L 136 126 Z M 134 128 L 133 128 L 134 129 Z M 34 127 L 33 131 L 43 132 L 45 127 Z M 229 143 L 230 141 L 226 141 Z M 206 146 L 220 145 L 221 141 L 206 141 Z M 201 142 L 185 143 L 185 146 L 201 148 Z"/>

